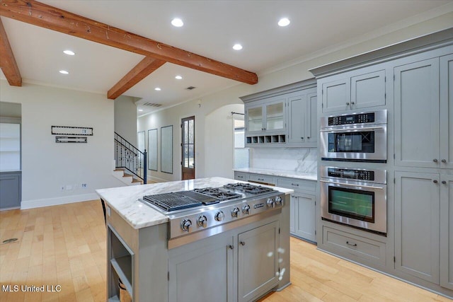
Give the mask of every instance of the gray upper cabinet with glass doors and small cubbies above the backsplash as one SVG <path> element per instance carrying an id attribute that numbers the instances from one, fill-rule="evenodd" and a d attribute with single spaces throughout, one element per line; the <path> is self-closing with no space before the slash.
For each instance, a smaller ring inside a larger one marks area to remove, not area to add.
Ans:
<path id="1" fill-rule="evenodd" d="M 245 104 L 246 146 L 316 146 L 314 79 L 241 99 Z"/>

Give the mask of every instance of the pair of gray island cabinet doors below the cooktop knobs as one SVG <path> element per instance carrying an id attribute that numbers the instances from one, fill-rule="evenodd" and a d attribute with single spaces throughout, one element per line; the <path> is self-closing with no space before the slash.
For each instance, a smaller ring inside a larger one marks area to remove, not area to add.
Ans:
<path id="1" fill-rule="evenodd" d="M 263 296 L 279 281 L 278 230 L 273 221 L 170 250 L 168 301 L 245 302 Z"/>

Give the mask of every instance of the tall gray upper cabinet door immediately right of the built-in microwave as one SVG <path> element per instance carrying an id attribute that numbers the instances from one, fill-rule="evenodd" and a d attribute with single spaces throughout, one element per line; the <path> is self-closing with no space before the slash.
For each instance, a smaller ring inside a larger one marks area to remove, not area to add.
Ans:
<path id="1" fill-rule="evenodd" d="M 439 168 L 439 59 L 395 67 L 395 164 Z"/>

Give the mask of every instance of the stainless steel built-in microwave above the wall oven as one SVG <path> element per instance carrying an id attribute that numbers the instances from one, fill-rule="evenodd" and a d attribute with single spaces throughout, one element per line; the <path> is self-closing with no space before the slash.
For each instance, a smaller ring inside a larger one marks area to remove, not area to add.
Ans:
<path id="1" fill-rule="evenodd" d="M 323 161 L 387 161 L 387 110 L 321 117 Z"/>

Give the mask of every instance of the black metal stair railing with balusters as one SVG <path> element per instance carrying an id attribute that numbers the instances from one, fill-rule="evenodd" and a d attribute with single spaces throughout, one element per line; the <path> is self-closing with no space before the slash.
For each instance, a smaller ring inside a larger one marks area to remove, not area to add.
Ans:
<path id="1" fill-rule="evenodd" d="M 147 150 L 140 151 L 115 132 L 115 167 L 124 168 L 147 183 Z"/>

